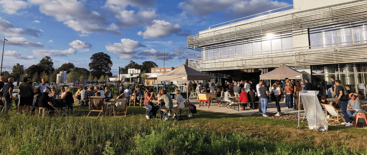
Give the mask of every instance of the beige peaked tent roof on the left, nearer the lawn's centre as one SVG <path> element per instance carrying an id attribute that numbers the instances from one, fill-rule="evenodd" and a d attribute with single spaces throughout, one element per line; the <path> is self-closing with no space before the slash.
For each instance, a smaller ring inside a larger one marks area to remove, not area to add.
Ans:
<path id="1" fill-rule="evenodd" d="M 192 69 L 186 65 L 181 65 L 180 67 L 157 76 L 157 80 L 164 81 L 191 81 L 191 80 L 210 80 L 210 75 L 201 73 Z"/>

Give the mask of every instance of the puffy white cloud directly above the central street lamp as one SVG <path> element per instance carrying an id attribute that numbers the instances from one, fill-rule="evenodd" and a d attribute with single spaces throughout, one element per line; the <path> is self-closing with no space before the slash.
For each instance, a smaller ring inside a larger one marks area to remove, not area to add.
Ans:
<path id="1" fill-rule="evenodd" d="M 153 20 L 151 25 L 146 26 L 146 31 L 142 33 L 138 32 L 138 35 L 143 36 L 144 39 L 148 38 L 164 38 L 172 34 L 179 33 L 181 26 L 178 24 L 171 24 L 164 20 Z"/>

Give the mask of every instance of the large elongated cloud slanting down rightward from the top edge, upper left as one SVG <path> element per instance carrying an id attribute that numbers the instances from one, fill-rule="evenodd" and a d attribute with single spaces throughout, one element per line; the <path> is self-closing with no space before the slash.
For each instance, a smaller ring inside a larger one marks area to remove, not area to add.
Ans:
<path id="1" fill-rule="evenodd" d="M 68 25 L 86 36 L 93 32 L 121 35 L 119 27 L 112 23 L 108 27 L 106 19 L 98 12 L 87 10 L 83 1 L 77 0 L 28 0 L 39 5 L 41 13 L 53 16 L 58 22 Z"/>

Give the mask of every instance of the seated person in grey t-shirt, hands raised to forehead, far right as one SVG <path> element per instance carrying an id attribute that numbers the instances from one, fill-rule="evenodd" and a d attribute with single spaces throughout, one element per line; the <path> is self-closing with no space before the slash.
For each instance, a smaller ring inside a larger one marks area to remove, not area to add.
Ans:
<path id="1" fill-rule="evenodd" d="M 357 113 L 364 113 L 361 106 L 361 95 L 357 93 L 349 94 L 350 100 L 348 101 L 348 106 L 346 107 L 347 113 L 350 117 L 355 117 Z"/>

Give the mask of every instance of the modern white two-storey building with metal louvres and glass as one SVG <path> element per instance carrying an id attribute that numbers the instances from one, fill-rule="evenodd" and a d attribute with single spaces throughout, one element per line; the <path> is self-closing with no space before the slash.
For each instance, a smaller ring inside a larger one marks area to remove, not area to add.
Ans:
<path id="1" fill-rule="evenodd" d="M 325 94 L 330 77 L 364 96 L 367 83 L 367 1 L 294 0 L 293 5 L 210 26 L 188 37 L 201 58 L 188 66 L 239 80 L 286 64 L 307 73 Z M 301 80 L 301 79 L 299 79 Z"/>

